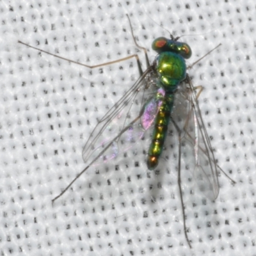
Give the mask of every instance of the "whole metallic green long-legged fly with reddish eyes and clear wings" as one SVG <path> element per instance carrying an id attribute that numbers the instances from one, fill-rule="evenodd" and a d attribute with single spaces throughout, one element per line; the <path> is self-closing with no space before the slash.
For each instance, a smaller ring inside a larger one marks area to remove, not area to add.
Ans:
<path id="1" fill-rule="evenodd" d="M 133 33 L 132 37 L 134 39 Z M 191 247 L 191 241 L 189 241 L 187 234 L 182 196 L 181 159 L 184 155 L 188 156 L 190 154 L 193 156 L 193 176 L 199 189 L 211 200 L 218 197 L 220 188 L 217 169 L 220 167 L 216 164 L 211 142 L 198 106 L 198 97 L 202 92 L 202 87 L 193 87 L 191 78 L 186 73 L 188 68 L 185 59 L 191 57 L 191 48 L 188 44 L 178 40 L 179 38 L 174 38 L 172 35 L 170 39 L 156 38 L 152 43 L 152 49 L 157 52 L 157 56 L 150 65 L 147 50 L 136 44 L 134 39 L 136 46 L 145 52 L 147 69 L 144 72 L 137 54 L 100 65 L 88 66 L 45 52 L 20 41 L 19 43 L 88 68 L 102 67 L 136 58 L 140 78 L 99 120 L 83 148 L 83 160 L 86 167 L 52 202 L 63 195 L 90 166 L 98 163 L 100 159 L 109 161 L 109 159 L 115 158 L 120 151 L 129 150 L 141 138 L 145 138 L 145 132 L 150 129 L 152 130 L 150 133 L 152 137 L 147 154 L 147 168 L 148 170 L 154 170 L 161 158 L 168 125 L 172 123 L 179 136 L 178 185 L 182 204 L 184 234 Z M 198 61 L 195 63 L 198 63 Z"/>

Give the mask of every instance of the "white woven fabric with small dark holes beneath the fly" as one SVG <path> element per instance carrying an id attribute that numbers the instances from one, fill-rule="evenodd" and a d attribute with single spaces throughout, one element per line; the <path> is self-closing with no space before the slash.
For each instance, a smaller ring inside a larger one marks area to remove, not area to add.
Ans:
<path id="1" fill-rule="evenodd" d="M 253 1 L 1 0 L 0 12 L 1 255 L 256 255 Z M 116 60 L 138 52 L 126 13 L 151 61 L 152 40 L 168 36 L 158 24 L 184 35 L 193 51 L 188 65 L 222 44 L 190 74 L 205 89 L 200 108 L 216 159 L 237 183 L 221 174 L 218 199 L 205 205 L 182 170 L 185 191 L 195 190 L 185 196 L 192 250 L 177 143 L 154 172 L 139 143 L 136 156 L 129 152 L 118 168 L 90 168 L 51 204 L 86 166 L 86 138 L 138 68 L 129 60 L 92 71 L 17 41 L 88 65 Z"/>

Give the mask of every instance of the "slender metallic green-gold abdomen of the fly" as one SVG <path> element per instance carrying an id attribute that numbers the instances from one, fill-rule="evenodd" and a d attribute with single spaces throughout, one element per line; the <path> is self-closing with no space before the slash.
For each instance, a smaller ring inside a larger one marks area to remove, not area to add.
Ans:
<path id="1" fill-rule="evenodd" d="M 158 164 L 158 159 L 163 151 L 168 124 L 170 122 L 170 115 L 173 107 L 173 93 L 166 94 L 167 95 L 164 96 L 163 102 L 156 116 L 152 141 L 148 149 L 148 170 L 154 170 Z"/>

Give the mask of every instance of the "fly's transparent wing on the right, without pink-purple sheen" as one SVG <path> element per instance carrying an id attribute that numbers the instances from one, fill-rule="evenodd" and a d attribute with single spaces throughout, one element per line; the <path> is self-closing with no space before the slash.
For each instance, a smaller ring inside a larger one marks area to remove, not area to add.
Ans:
<path id="1" fill-rule="evenodd" d="M 181 130 L 182 154 L 188 157 L 189 152 L 193 152 L 193 159 L 189 164 L 193 163 L 193 176 L 200 191 L 214 200 L 220 189 L 217 164 L 197 98 L 196 88 L 188 77 L 188 86 L 180 86 L 175 95 L 172 118 Z"/>

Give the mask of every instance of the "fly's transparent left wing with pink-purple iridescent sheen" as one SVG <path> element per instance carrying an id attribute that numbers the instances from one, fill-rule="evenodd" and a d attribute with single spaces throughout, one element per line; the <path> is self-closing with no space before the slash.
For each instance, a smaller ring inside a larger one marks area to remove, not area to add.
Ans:
<path id="1" fill-rule="evenodd" d="M 83 148 L 83 160 L 93 164 L 115 158 L 131 148 L 151 126 L 159 109 L 154 72 L 149 67 L 95 126 Z M 141 120 L 141 122 L 140 122 Z"/>

